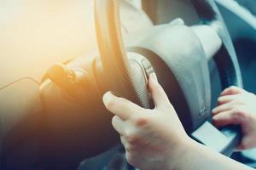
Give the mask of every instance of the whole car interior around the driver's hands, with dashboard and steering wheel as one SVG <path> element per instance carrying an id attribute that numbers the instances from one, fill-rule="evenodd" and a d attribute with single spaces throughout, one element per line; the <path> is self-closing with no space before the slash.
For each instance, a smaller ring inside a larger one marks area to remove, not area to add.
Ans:
<path id="1" fill-rule="evenodd" d="M 0 1 L 0 169 L 136 169 L 102 95 L 152 108 L 152 72 L 190 137 L 256 167 L 256 150 L 235 152 L 240 128 L 211 121 L 224 88 L 256 94 L 255 10 L 254 0 Z"/>

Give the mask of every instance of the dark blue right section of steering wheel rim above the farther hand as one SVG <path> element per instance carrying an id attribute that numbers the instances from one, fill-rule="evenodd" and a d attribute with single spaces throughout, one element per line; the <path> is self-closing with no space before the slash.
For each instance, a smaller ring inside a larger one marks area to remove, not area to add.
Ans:
<path id="1" fill-rule="evenodd" d="M 214 57 L 220 73 L 222 88 L 230 86 L 242 88 L 241 71 L 236 52 L 216 4 L 212 0 L 192 0 L 191 2 L 194 4 L 203 24 L 212 26 L 223 41 L 223 47 Z"/>

